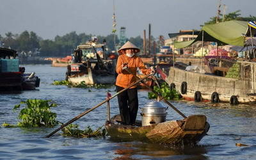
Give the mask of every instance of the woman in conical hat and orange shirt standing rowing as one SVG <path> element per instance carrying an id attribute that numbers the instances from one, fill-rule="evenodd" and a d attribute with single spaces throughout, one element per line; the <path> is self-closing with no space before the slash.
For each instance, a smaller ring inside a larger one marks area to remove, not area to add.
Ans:
<path id="1" fill-rule="evenodd" d="M 116 92 L 120 92 L 136 81 L 137 68 L 143 74 L 154 72 L 152 68 L 146 68 L 141 58 L 136 56 L 138 52 L 140 52 L 140 49 L 129 41 L 118 50 L 120 55 L 116 64 L 116 73 L 118 74 L 116 77 Z M 139 106 L 137 86 L 132 86 L 117 97 L 122 124 L 134 125 Z"/>

